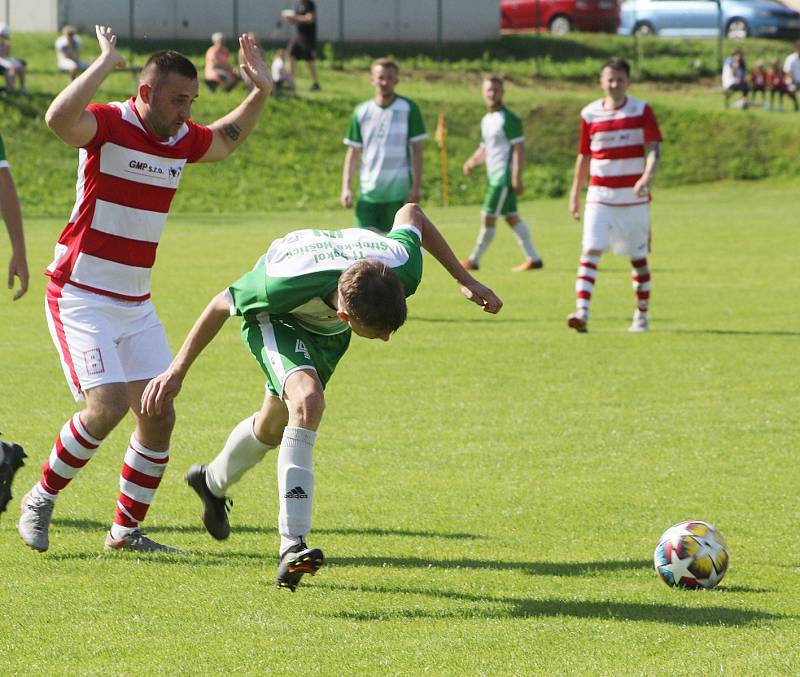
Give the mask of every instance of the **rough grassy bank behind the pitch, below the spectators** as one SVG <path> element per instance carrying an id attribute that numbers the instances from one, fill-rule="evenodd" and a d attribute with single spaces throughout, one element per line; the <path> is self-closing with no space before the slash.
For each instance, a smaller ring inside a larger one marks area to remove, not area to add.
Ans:
<path id="1" fill-rule="evenodd" d="M 93 56 L 96 41 L 84 37 L 86 56 Z M 580 109 L 600 95 L 595 84 L 600 66 L 611 54 L 626 53 L 623 47 L 632 44 L 616 36 L 515 37 L 487 43 L 480 50 L 475 46 L 448 47 L 447 60 L 442 63 L 432 60 L 430 49 L 426 53 L 419 46 L 393 47 L 402 68 L 398 91 L 418 101 L 431 136 L 438 114 L 447 116 L 451 205 L 479 203 L 485 191 L 482 171 L 467 178 L 461 172 L 464 160 L 479 143 L 484 113 L 482 73 L 503 70 L 509 76 L 507 103 L 525 124 L 528 196 L 559 197 L 571 182 Z M 771 60 L 790 50 L 787 44 L 775 41 L 746 44 L 751 61 L 756 56 Z M 163 46 L 139 42 L 132 60 L 141 64 L 150 49 Z M 202 62 L 204 45 L 177 46 L 198 65 Z M 122 48 L 127 54 L 128 45 Z M 539 48 L 546 51 L 545 63 L 554 70 L 536 78 L 533 55 Z M 246 145 L 226 162 L 186 172 L 173 213 L 336 209 L 345 150 L 342 137 L 354 105 L 372 95 L 367 68 L 376 49 L 351 46 L 341 55 L 334 53 L 333 58 L 322 61 L 320 94 L 307 93 L 308 75 L 301 68 L 301 96 L 271 101 Z M 692 71 L 697 54 L 708 58 L 715 54 L 714 49 L 715 43 L 708 40 L 642 41 L 642 50 L 651 55 L 648 64 L 661 63 L 659 59 L 674 61 L 674 68 L 687 74 L 678 82 L 679 78 L 645 72 L 644 81 L 634 83 L 631 89 L 631 94 L 652 103 L 664 132 L 660 185 L 796 177 L 800 173 L 796 161 L 800 154 L 797 116 L 766 110 L 722 110 L 722 96 L 715 90 L 716 76 L 713 80 L 698 79 Z M 46 129 L 43 119 L 67 78 L 53 69 L 49 36 L 15 35 L 14 53 L 30 58 L 31 95 L 0 97 L 0 133 L 25 214 L 63 217 L 69 214 L 74 200 L 77 154 Z M 124 100 L 134 87 L 130 73 L 113 74 L 96 100 Z M 200 95 L 193 114 L 206 124 L 242 99 L 241 91 L 212 95 L 205 87 L 201 87 Z M 423 181 L 427 204 L 441 204 L 442 183 L 439 150 L 431 138 L 426 144 Z"/>

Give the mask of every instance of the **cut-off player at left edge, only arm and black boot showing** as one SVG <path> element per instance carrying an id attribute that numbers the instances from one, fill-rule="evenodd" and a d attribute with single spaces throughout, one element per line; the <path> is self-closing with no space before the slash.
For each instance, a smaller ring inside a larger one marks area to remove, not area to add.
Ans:
<path id="1" fill-rule="evenodd" d="M 14 278 L 19 279 L 19 289 L 14 294 L 16 301 L 28 290 L 28 260 L 25 255 L 25 233 L 22 227 L 22 209 L 17 197 L 17 188 L 6 159 L 3 137 L 0 136 L 0 213 L 11 241 L 11 259 L 8 262 L 8 288 L 14 288 Z M 11 500 L 11 484 L 14 474 L 23 465 L 25 452 L 18 444 L 0 442 L 0 513 Z"/>

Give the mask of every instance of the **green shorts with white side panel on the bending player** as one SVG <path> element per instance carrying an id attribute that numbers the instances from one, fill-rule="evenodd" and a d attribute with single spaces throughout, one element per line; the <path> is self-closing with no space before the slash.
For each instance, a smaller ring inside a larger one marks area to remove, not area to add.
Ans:
<path id="1" fill-rule="evenodd" d="M 260 313 L 242 322 L 245 345 L 267 375 L 267 388 L 281 399 L 287 377 L 300 369 L 315 371 L 324 388 L 350 345 L 351 333 L 315 334 L 291 315 Z"/>

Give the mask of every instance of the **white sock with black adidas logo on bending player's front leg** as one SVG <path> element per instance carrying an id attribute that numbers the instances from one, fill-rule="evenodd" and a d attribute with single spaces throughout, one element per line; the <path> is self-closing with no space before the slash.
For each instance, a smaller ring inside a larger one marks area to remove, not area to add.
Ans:
<path id="1" fill-rule="evenodd" d="M 281 549 L 299 543 L 311 531 L 311 503 L 314 473 L 311 452 L 317 433 L 307 428 L 286 426 L 278 452 L 278 531 Z"/>

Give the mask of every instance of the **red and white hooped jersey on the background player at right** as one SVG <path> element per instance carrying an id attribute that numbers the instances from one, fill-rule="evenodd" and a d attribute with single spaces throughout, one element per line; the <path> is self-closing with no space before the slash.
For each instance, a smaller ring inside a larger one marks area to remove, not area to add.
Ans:
<path id="1" fill-rule="evenodd" d="M 581 139 L 578 152 L 590 155 L 589 189 L 586 202 L 623 207 L 644 204 L 633 186 L 644 173 L 644 144 L 661 141 L 653 109 L 629 96 L 621 108 L 608 109 L 603 99 L 581 111 Z"/>

